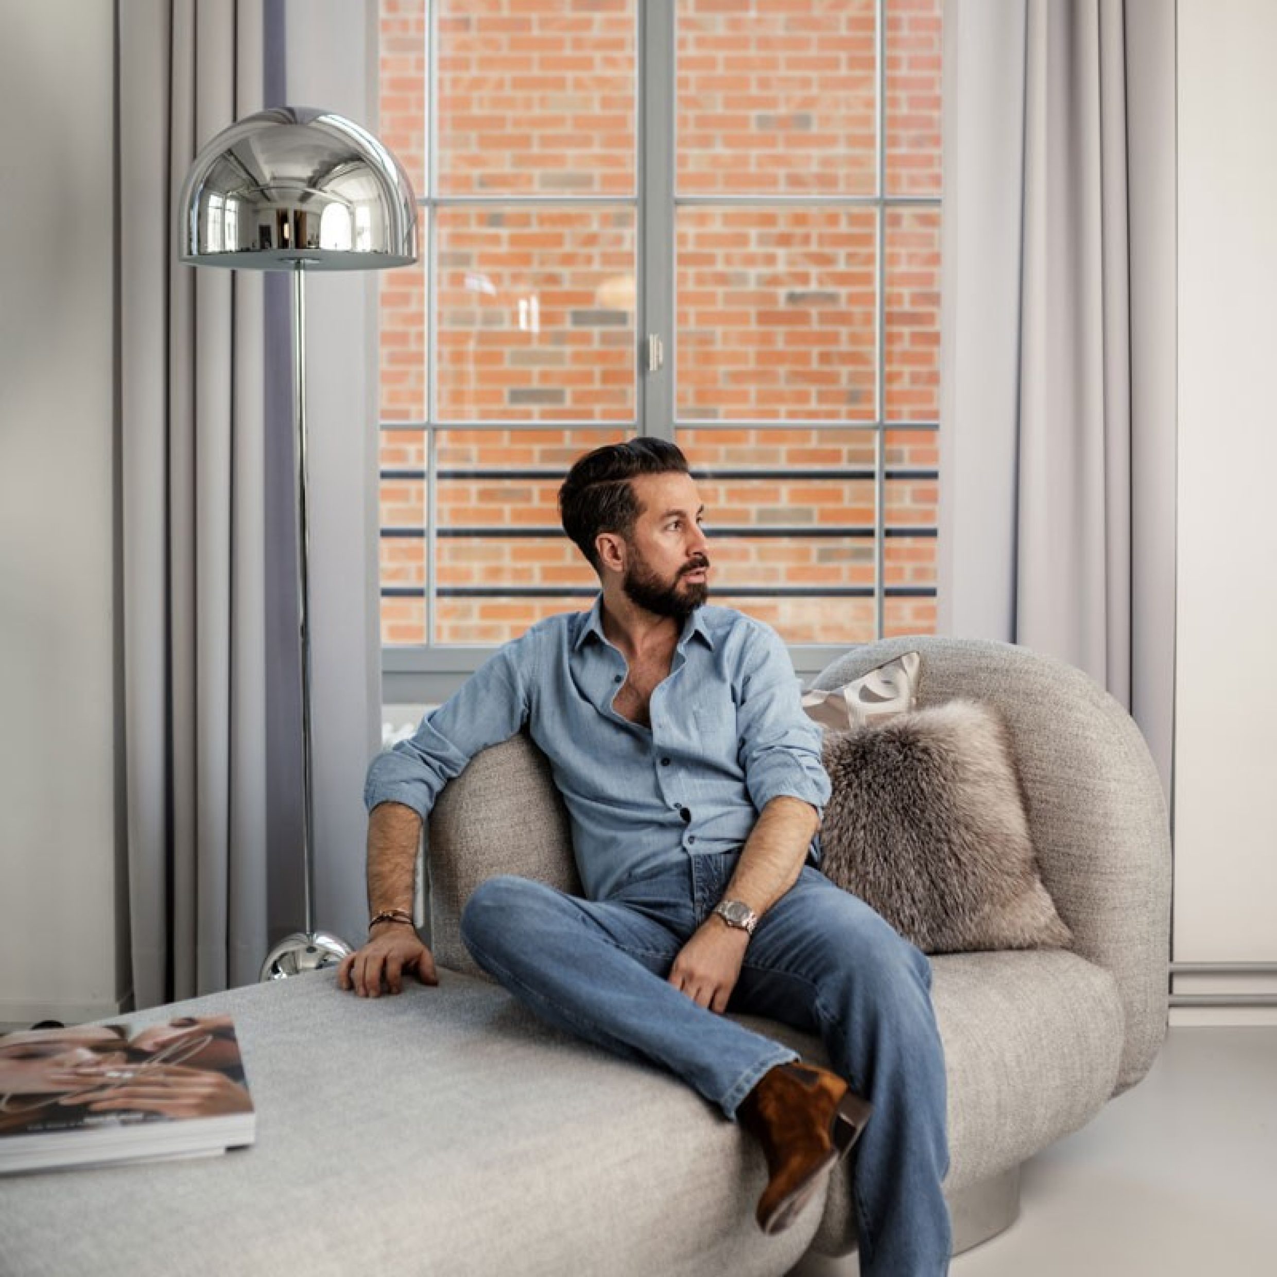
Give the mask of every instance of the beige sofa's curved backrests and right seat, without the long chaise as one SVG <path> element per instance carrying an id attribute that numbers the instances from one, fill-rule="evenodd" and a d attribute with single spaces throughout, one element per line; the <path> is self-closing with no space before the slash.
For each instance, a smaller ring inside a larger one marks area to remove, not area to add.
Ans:
<path id="1" fill-rule="evenodd" d="M 1130 716 L 1057 660 L 1005 644 L 900 638 L 849 653 L 813 686 L 838 687 L 914 649 L 919 706 L 963 696 L 1006 716 L 1042 879 L 1074 933 L 1071 953 L 935 959 L 955 1193 L 1077 1130 L 1148 1070 L 1166 1032 L 1170 835 Z M 511 872 L 575 889 L 567 819 L 526 737 L 487 751 L 444 790 L 429 839 L 435 950 L 457 969 L 474 971 L 457 923 L 479 881 Z M 764 1028 L 824 1059 L 815 1039 Z M 849 1175 L 830 1188 L 816 1237 L 826 1253 L 854 1245 Z"/>

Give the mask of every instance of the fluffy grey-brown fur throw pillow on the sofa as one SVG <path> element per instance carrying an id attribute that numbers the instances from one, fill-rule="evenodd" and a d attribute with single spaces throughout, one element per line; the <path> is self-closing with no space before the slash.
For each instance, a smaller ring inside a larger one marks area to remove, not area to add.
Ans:
<path id="1" fill-rule="evenodd" d="M 830 732 L 821 868 L 925 953 L 1065 946 L 1001 714 L 950 701 Z"/>

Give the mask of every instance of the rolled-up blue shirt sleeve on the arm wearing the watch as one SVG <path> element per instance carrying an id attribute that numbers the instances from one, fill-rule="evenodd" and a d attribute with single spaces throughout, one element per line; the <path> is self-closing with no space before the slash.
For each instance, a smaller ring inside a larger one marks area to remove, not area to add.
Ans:
<path id="1" fill-rule="evenodd" d="M 821 732 L 802 707 L 793 665 L 780 636 L 762 624 L 750 627 L 743 655 L 737 727 L 739 760 L 753 806 L 773 798 L 801 798 L 817 812 L 829 801 L 821 762 Z"/>

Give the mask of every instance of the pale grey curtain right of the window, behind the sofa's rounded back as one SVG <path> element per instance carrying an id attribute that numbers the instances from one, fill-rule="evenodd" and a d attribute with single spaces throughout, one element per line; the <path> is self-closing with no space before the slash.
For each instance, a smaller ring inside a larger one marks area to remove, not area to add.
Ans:
<path id="1" fill-rule="evenodd" d="M 1175 5 L 945 5 L 940 626 L 1131 710 L 1170 792 Z"/>

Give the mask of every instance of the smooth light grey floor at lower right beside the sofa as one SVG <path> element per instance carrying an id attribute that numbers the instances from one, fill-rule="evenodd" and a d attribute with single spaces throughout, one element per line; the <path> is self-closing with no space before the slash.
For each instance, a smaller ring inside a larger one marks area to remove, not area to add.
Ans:
<path id="1" fill-rule="evenodd" d="M 1019 1220 L 951 1266 L 951 1277 L 1274 1273 L 1277 1028 L 1171 1029 L 1138 1087 L 1024 1167 Z"/>

